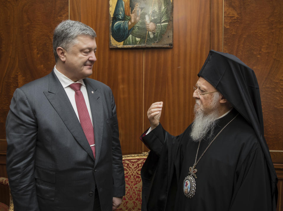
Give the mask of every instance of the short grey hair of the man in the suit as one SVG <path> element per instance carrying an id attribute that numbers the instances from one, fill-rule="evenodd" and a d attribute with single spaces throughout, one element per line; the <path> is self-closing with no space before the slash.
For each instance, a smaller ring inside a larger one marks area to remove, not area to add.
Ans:
<path id="1" fill-rule="evenodd" d="M 76 38 L 79 35 L 88 35 L 96 38 L 95 31 L 82 22 L 74 20 L 63 20 L 54 30 L 53 34 L 53 53 L 55 61 L 59 59 L 57 48 L 62 47 L 66 51 L 76 44 Z"/>

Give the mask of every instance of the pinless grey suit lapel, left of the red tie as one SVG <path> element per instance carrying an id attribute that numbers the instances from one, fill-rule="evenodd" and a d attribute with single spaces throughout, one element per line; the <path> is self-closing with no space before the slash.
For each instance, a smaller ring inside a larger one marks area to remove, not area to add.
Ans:
<path id="1" fill-rule="evenodd" d="M 78 117 L 76 116 L 66 91 L 54 71 L 49 74 L 49 88 L 48 92 L 44 92 L 44 94 L 61 117 L 68 130 L 72 133 L 73 137 L 94 160 L 89 142 L 86 139 Z"/>

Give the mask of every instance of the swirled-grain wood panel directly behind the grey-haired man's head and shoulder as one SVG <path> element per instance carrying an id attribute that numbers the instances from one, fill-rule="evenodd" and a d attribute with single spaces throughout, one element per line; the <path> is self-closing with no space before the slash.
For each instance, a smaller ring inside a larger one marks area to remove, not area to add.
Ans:
<path id="1" fill-rule="evenodd" d="M 52 49 L 53 31 L 68 19 L 68 0 L 19 1 L 17 68 L 19 86 L 41 78 L 55 65 Z"/>

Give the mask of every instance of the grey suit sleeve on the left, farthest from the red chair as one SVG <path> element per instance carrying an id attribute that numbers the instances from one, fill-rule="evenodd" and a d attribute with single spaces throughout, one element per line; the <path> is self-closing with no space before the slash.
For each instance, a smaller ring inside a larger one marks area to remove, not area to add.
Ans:
<path id="1" fill-rule="evenodd" d="M 38 210 L 35 187 L 37 121 L 24 92 L 17 88 L 6 119 L 7 173 L 14 210 Z"/>

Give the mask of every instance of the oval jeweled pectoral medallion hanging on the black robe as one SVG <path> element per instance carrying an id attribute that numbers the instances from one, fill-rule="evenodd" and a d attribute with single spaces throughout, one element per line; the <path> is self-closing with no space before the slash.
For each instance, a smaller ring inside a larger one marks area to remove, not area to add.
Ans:
<path id="1" fill-rule="evenodd" d="M 194 180 L 194 177 L 197 178 L 197 176 L 195 175 L 197 173 L 197 169 L 195 169 L 193 166 L 190 167 L 189 170 L 189 175 L 186 176 L 184 179 L 183 191 L 185 196 L 188 199 L 191 199 L 194 196 L 194 193 L 196 192 L 196 182 Z"/>

